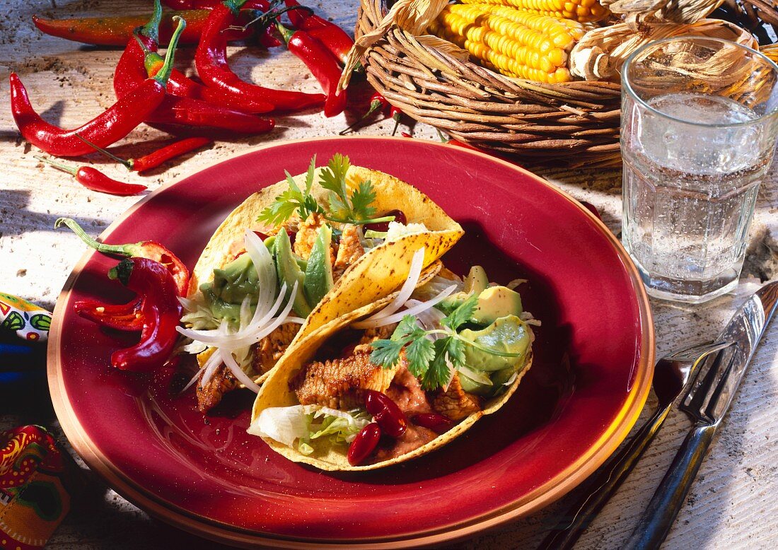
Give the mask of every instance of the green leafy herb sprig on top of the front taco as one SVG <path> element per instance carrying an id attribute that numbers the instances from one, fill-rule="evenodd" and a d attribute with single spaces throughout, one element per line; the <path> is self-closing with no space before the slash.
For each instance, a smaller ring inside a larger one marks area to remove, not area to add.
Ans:
<path id="1" fill-rule="evenodd" d="M 373 352 L 370 353 L 371 363 L 384 366 L 385 369 L 391 368 L 398 363 L 400 354 L 405 349 L 408 370 L 422 381 L 425 390 L 434 390 L 447 384 L 452 367 L 458 369 L 465 366 L 465 345 L 471 345 L 482 352 L 496 356 L 520 357 L 522 355 L 520 353 L 500 352 L 459 335 L 457 329 L 471 319 L 477 305 L 478 296 L 474 294 L 444 317 L 440 321 L 439 329 L 430 331 L 419 327 L 416 317 L 406 315 L 394 329 L 389 340 L 373 342 Z M 428 335 L 442 335 L 442 338 L 432 340 L 426 338 Z"/>

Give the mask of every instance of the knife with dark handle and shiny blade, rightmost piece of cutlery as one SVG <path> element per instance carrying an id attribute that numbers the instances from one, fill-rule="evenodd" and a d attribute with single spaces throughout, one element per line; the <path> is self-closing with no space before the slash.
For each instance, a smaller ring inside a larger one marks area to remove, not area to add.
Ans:
<path id="1" fill-rule="evenodd" d="M 776 305 L 778 281 L 773 281 L 746 300 L 717 338 L 719 342 L 733 345 L 706 360 L 678 406 L 689 415 L 694 426 L 623 546 L 625 550 L 659 548 L 667 537 Z"/>

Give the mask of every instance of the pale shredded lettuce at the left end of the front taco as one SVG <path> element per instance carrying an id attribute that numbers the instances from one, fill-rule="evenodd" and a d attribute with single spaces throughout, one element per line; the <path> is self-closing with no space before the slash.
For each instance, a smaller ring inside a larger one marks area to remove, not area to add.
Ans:
<path id="1" fill-rule="evenodd" d="M 262 411 L 247 432 L 269 437 L 303 454 L 314 452 L 314 440 L 328 438 L 332 443 L 351 443 L 365 426 L 370 424 L 367 412 L 355 409 L 349 412 L 321 405 L 293 405 L 271 407 Z"/>

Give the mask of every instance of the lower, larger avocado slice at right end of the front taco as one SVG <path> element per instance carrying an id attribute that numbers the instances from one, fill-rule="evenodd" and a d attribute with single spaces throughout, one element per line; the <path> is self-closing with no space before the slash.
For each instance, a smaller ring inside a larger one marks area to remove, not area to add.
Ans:
<path id="1" fill-rule="evenodd" d="M 459 335 L 475 344 L 464 345 L 464 364 L 473 370 L 494 371 L 524 365 L 531 343 L 527 324 L 515 315 L 500 317 L 480 331 L 466 328 Z"/>

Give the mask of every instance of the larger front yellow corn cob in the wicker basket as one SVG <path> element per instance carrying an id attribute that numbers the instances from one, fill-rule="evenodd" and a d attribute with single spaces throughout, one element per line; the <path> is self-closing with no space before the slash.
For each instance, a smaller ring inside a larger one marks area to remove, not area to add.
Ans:
<path id="1" fill-rule="evenodd" d="M 572 79 L 567 51 L 583 35 L 580 23 L 567 23 L 496 5 L 448 5 L 430 30 L 504 75 L 555 83 Z"/>

